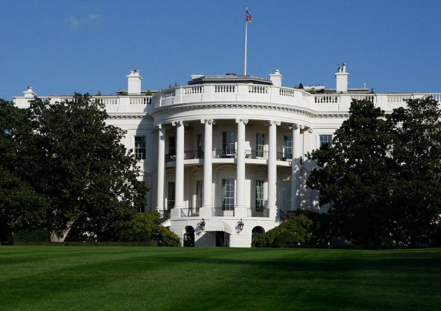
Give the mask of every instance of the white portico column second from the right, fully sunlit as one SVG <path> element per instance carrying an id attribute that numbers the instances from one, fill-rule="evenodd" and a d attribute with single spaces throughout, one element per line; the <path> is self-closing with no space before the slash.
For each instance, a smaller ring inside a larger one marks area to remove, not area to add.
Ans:
<path id="1" fill-rule="evenodd" d="M 268 150 L 268 203 L 269 209 L 277 209 L 277 125 L 279 121 L 268 121 L 269 150 Z"/>

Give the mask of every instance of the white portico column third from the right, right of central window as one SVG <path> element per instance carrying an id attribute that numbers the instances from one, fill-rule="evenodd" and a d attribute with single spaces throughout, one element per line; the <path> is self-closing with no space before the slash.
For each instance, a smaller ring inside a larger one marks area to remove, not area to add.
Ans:
<path id="1" fill-rule="evenodd" d="M 237 162 L 236 162 L 236 206 L 245 207 L 245 125 L 248 119 L 236 119 Z M 237 216 L 237 215 L 236 215 Z"/>

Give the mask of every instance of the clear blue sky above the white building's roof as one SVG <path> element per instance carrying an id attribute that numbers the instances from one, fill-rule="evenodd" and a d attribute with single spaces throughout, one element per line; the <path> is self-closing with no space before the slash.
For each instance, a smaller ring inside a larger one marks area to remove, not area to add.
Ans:
<path id="1" fill-rule="evenodd" d="M 248 1 L 248 74 L 283 85 L 441 92 L 441 1 Z M 245 2 L 1 2 L 0 97 L 187 84 L 191 74 L 243 74 Z"/>

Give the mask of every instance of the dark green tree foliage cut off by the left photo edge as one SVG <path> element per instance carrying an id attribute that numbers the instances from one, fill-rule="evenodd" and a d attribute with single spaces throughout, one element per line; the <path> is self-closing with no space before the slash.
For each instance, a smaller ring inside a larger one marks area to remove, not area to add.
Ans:
<path id="1" fill-rule="evenodd" d="M 45 223 L 46 201 L 23 180 L 21 172 L 29 158 L 23 142 L 33 136 L 24 109 L 0 99 L 0 237 L 11 231 Z"/>

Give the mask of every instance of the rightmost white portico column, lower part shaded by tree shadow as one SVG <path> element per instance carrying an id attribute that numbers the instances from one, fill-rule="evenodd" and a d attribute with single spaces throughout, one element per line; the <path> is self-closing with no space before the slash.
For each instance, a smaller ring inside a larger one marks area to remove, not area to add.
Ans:
<path id="1" fill-rule="evenodd" d="M 300 143 L 301 124 L 292 125 L 292 175 L 291 175 L 291 210 L 300 208 L 300 157 L 302 157 Z"/>

